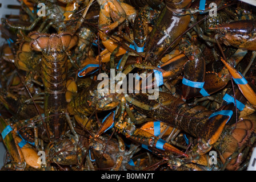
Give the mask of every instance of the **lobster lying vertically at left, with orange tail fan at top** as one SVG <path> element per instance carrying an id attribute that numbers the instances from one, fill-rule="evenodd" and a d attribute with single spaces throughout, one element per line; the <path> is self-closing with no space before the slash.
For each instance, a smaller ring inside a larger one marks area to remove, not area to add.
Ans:
<path id="1" fill-rule="evenodd" d="M 42 80 L 45 86 L 45 115 L 66 112 L 67 58 L 65 51 L 77 44 L 78 36 L 62 34 L 30 34 L 30 46 L 42 52 Z M 47 130 L 51 138 L 65 134 L 66 118 L 63 115 L 47 118 Z"/>

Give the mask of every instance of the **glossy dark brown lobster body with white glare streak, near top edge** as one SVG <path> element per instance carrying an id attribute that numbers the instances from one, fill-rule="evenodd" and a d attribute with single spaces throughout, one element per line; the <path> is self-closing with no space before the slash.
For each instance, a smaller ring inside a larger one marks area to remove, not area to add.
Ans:
<path id="1" fill-rule="evenodd" d="M 189 6 L 191 1 L 171 1 L 165 2 L 161 14 L 158 16 L 157 24 L 151 31 L 150 37 L 146 43 L 146 59 L 151 64 L 158 66 L 157 59 L 165 51 L 175 38 L 181 35 L 189 26 L 191 16 L 190 14 L 177 16 L 174 12 L 179 12 Z M 171 21 L 167 21 L 171 19 Z M 162 30 L 164 30 L 162 32 Z M 165 35 L 162 35 L 165 34 Z M 173 45 L 177 46 L 178 42 Z"/>

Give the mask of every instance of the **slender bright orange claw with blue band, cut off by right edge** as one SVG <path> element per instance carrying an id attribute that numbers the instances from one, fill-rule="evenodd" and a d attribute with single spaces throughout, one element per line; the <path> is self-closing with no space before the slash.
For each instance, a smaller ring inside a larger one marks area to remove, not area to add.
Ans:
<path id="1" fill-rule="evenodd" d="M 241 75 L 235 68 L 233 68 L 229 63 L 221 58 L 221 61 L 229 69 L 230 74 L 233 77 L 233 80 L 238 85 L 239 90 L 242 92 L 243 96 L 250 102 L 252 105 L 256 105 L 256 88 L 250 82 L 247 82 L 245 77 Z"/>

